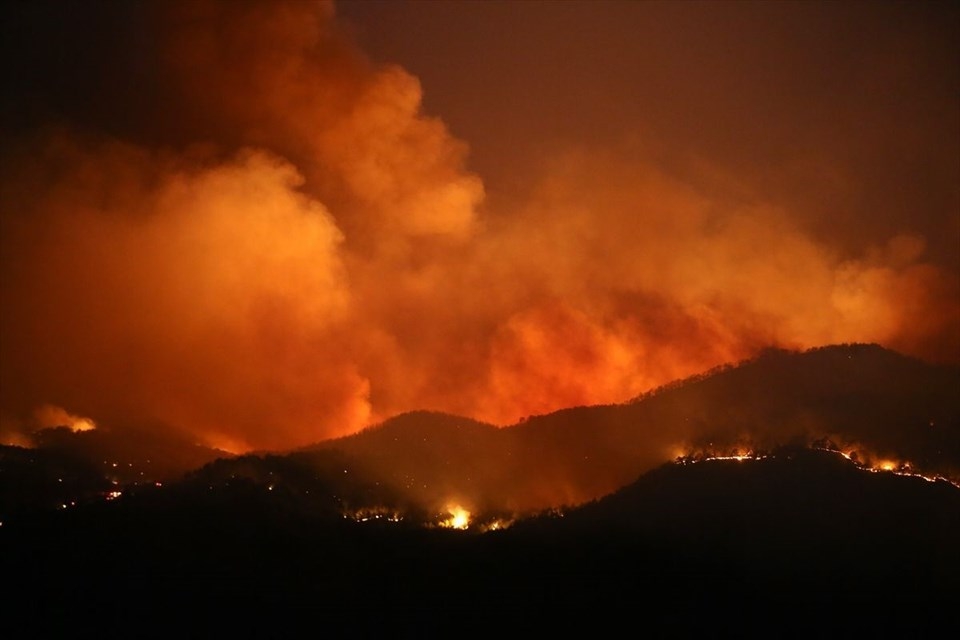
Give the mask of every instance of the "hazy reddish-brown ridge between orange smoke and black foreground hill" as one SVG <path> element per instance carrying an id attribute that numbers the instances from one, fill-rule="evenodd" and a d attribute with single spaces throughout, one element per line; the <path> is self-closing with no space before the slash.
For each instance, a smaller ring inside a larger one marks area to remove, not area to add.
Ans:
<path id="1" fill-rule="evenodd" d="M 499 430 L 416 412 L 314 448 L 368 463 L 432 508 L 535 511 L 607 495 L 683 453 L 813 442 L 960 477 L 960 368 L 876 345 L 769 350 L 622 405 Z"/>

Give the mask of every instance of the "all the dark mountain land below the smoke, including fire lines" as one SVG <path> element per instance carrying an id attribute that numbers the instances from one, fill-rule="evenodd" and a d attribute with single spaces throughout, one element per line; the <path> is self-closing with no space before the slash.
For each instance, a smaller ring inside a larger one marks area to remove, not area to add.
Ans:
<path id="1" fill-rule="evenodd" d="M 952 637 L 958 385 L 841 345 L 291 452 L 46 430 L 0 447 L 0 638 Z"/>

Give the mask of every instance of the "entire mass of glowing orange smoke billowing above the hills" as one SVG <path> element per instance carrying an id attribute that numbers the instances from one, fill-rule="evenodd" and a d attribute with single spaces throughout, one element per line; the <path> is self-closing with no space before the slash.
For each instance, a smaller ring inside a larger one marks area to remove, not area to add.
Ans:
<path id="1" fill-rule="evenodd" d="M 46 108 L 6 117 L 6 425 L 56 406 L 282 448 L 619 402 L 771 345 L 960 358 L 956 277 L 910 229 L 854 255 L 750 188 L 593 147 L 487 205 L 417 79 L 331 5 L 122 11 L 136 37 L 40 60 Z"/>

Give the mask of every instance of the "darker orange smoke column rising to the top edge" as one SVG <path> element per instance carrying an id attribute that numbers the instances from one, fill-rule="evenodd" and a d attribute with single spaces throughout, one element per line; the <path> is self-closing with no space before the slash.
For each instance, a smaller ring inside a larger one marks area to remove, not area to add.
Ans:
<path id="1" fill-rule="evenodd" d="M 416 78 L 371 65 L 328 3 L 183 3 L 165 48 L 192 118 L 222 140 L 293 159 L 337 204 L 348 242 L 463 236 L 483 197 L 463 143 L 420 112 Z M 369 248 L 369 247 L 367 247 Z"/>

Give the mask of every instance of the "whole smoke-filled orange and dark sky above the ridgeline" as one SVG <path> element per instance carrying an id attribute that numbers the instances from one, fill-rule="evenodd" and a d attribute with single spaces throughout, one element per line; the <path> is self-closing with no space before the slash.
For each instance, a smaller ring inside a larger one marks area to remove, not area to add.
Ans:
<path id="1" fill-rule="evenodd" d="M 950 3 L 0 12 L 0 440 L 277 449 L 766 346 L 960 361 Z"/>

